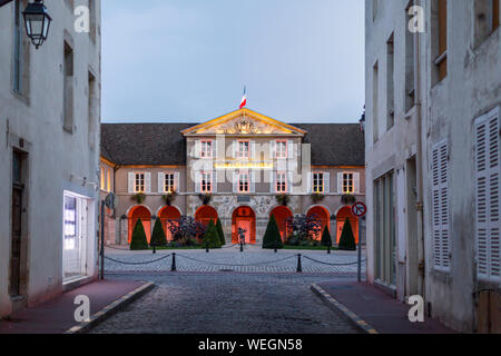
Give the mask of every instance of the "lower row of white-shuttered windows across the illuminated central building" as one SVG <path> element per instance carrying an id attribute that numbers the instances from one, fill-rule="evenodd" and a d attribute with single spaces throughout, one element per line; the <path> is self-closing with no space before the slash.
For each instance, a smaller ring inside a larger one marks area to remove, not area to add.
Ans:
<path id="1" fill-rule="evenodd" d="M 217 192 L 217 174 L 214 171 L 200 171 L 195 174 L 195 191 L 203 194 Z M 331 174 L 313 172 L 308 177 L 310 192 L 328 194 L 331 192 Z M 341 172 L 337 175 L 338 194 L 360 192 L 360 174 Z M 150 172 L 129 172 L 129 192 L 150 192 Z M 106 184 L 107 182 L 107 184 Z M 179 188 L 179 172 L 158 174 L 159 192 L 174 192 Z M 234 174 L 233 192 L 253 194 L 255 192 L 256 177 L 255 171 L 238 171 Z M 293 179 L 292 172 L 277 171 L 272 174 L 271 191 L 276 194 L 292 192 Z M 101 189 L 111 190 L 110 170 L 101 168 Z"/>

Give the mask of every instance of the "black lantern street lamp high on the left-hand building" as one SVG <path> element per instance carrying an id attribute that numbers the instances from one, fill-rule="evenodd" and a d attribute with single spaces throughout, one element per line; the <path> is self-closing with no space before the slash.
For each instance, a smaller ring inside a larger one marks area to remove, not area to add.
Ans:
<path id="1" fill-rule="evenodd" d="M 22 16 L 24 17 L 26 32 L 31 39 L 31 43 L 38 49 L 47 40 L 52 18 L 47 13 L 43 0 L 28 3 Z"/>

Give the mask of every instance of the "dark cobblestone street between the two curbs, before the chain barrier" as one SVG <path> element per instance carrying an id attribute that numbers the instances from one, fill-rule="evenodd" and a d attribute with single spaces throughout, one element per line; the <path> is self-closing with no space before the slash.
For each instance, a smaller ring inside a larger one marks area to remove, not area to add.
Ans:
<path id="1" fill-rule="evenodd" d="M 322 275 L 141 273 L 108 278 L 148 279 L 157 287 L 94 334 L 356 333 L 310 290 L 314 283 L 333 279 Z"/>

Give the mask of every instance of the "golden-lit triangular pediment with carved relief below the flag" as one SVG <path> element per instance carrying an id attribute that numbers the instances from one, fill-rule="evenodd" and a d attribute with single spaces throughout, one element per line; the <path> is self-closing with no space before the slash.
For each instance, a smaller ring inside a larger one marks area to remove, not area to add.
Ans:
<path id="1" fill-rule="evenodd" d="M 304 136 L 307 132 L 244 108 L 181 131 L 185 136 L 256 135 Z"/>

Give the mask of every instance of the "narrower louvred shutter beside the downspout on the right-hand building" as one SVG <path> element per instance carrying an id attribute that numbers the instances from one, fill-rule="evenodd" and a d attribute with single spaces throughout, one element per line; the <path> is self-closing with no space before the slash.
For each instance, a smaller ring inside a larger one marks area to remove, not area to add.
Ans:
<path id="1" fill-rule="evenodd" d="M 433 265 L 448 271 L 451 267 L 449 217 L 449 146 L 448 141 L 432 149 Z"/>

